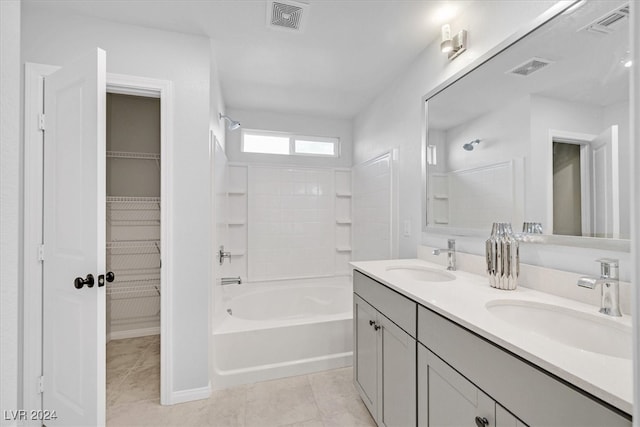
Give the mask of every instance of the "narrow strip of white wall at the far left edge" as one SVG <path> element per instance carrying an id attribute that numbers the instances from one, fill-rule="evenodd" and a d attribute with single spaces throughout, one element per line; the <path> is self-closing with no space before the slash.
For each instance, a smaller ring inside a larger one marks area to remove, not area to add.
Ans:
<path id="1" fill-rule="evenodd" d="M 20 1 L 0 1 L 0 411 L 19 409 Z M 0 423 L 15 422 L 2 417 Z"/>

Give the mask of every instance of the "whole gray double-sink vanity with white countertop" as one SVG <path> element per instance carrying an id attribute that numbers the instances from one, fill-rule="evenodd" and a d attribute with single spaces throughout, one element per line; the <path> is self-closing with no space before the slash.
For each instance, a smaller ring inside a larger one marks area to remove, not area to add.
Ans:
<path id="1" fill-rule="evenodd" d="M 579 330 L 563 342 L 561 332 L 526 327 L 535 310 L 548 310 L 569 328 L 575 317 L 626 334 L 628 316 L 607 319 L 522 287 L 500 291 L 421 260 L 352 264 L 354 382 L 379 426 L 631 425 L 630 338 L 626 354 L 626 342 L 602 342 L 600 351 Z"/>

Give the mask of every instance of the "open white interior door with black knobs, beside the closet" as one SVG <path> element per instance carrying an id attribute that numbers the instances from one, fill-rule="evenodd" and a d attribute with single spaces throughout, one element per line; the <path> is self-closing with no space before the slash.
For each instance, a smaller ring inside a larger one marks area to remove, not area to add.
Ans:
<path id="1" fill-rule="evenodd" d="M 42 407 L 52 425 L 105 424 L 106 54 L 45 79 Z M 94 285 L 76 288 L 77 277 Z"/>

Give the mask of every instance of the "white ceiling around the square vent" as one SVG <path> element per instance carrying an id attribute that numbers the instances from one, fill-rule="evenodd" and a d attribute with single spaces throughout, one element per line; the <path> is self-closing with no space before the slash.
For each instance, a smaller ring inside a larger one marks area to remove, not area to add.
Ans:
<path id="1" fill-rule="evenodd" d="M 469 2 L 310 0 L 301 33 L 267 28 L 265 0 L 23 3 L 211 38 L 228 107 L 350 118 Z"/>

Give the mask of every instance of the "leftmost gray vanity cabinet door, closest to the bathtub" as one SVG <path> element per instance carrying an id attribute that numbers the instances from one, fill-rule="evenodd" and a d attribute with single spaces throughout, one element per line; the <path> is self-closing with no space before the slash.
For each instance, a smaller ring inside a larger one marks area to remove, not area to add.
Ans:
<path id="1" fill-rule="evenodd" d="M 353 295 L 353 376 L 356 387 L 371 415 L 378 411 L 378 332 L 377 311 Z"/>

